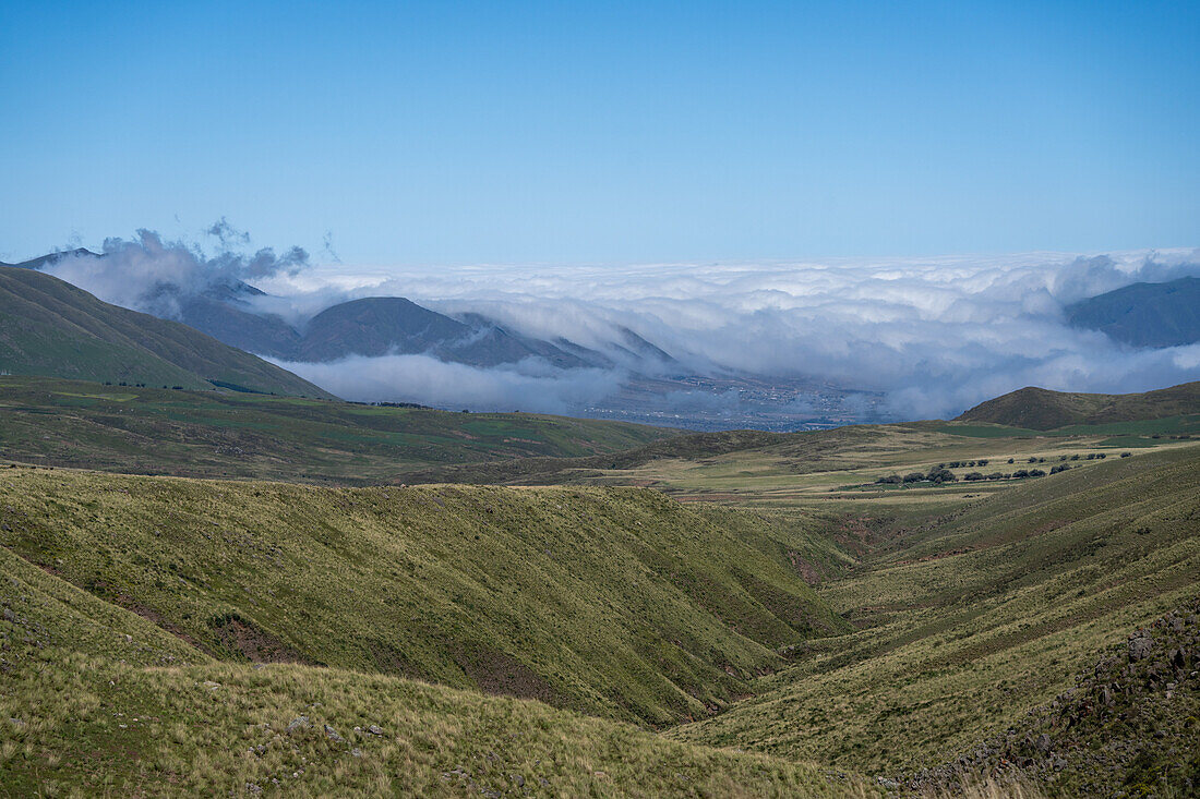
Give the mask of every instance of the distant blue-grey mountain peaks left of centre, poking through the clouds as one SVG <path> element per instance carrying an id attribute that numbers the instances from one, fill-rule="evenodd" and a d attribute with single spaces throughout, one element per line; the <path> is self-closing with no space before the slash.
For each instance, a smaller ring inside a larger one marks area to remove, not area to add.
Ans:
<path id="1" fill-rule="evenodd" d="M 88 250 L 50 253 L 12 266 L 40 270 L 65 257 L 102 258 Z M 565 338 L 542 341 L 508 330 L 480 314 L 452 318 L 410 300 L 377 296 L 330 306 L 290 324 L 256 307 L 265 294 L 230 280 L 199 294 L 164 286 L 148 298 L 152 305 L 175 307 L 178 320 L 217 341 L 248 353 L 283 361 L 328 362 L 352 355 L 425 354 L 442 361 L 493 367 L 539 358 L 558 368 L 612 368 L 620 364 L 660 371 L 674 359 L 634 331 L 619 328 L 605 352 Z M 170 300 L 164 302 L 163 300 Z"/>

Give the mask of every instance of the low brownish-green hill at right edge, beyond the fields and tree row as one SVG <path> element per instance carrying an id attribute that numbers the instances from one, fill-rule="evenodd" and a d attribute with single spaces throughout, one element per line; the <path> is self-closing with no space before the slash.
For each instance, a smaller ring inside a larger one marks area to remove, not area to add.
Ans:
<path id="1" fill-rule="evenodd" d="M 1068 394 L 1028 386 L 978 404 L 955 421 L 1055 429 L 1196 413 L 1200 382 L 1145 394 Z"/>

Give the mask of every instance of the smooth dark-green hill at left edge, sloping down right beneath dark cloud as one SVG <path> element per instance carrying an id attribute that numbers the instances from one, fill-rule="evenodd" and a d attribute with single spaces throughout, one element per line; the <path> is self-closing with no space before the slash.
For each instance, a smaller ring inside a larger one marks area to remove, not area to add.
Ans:
<path id="1" fill-rule="evenodd" d="M 0 371 L 330 397 L 197 330 L 108 305 L 56 277 L 14 266 L 0 266 Z"/>

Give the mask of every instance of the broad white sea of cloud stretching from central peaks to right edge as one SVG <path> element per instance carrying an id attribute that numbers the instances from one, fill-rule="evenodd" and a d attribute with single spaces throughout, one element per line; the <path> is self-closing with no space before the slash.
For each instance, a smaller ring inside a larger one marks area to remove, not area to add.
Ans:
<path id="1" fill-rule="evenodd" d="M 402 294 L 587 346 L 629 328 L 701 374 L 809 377 L 883 392 L 884 417 L 914 419 L 1026 385 L 1123 392 L 1200 379 L 1198 346 L 1132 349 L 1064 318 L 1078 300 L 1188 275 L 1200 275 L 1200 251 L 414 270 L 349 293 Z"/>

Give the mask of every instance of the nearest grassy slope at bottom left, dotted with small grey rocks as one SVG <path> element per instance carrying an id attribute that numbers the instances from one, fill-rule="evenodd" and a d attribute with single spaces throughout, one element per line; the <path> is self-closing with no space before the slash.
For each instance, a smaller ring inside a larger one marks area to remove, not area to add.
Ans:
<path id="1" fill-rule="evenodd" d="M 0 606 L 4 795 L 871 795 L 535 701 L 217 662 L 6 549 Z"/>

